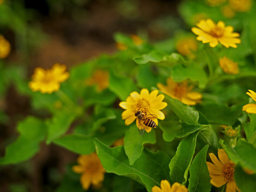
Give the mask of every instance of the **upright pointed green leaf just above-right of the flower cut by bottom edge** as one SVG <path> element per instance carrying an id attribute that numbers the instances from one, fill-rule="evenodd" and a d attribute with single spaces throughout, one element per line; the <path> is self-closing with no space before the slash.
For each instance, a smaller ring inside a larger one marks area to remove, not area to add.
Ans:
<path id="1" fill-rule="evenodd" d="M 176 154 L 169 164 L 170 180 L 172 183 L 179 182 L 184 185 L 187 182 L 189 167 L 195 153 L 198 133 L 199 131 L 190 134 L 187 138 L 183 139 L 177 147 Z"/>

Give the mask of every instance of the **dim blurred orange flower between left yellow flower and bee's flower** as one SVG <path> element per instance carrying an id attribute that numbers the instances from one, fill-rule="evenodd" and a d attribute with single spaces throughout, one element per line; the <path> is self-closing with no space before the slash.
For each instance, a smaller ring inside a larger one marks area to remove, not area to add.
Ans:
<path id="1" fill-rule="evenodd" d="M 92 77 L 87 81 L 88 85 L 97 84 L 97 91 L 103 91 L 110 84 L 110 74 L 108 71 L 97 69 Z"/>

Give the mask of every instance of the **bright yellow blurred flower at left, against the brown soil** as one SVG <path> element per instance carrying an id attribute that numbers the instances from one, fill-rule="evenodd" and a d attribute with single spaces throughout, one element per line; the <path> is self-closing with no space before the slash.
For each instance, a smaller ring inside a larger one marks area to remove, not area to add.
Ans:
<path id="1" fill-rule="evenodd" d="M 67 67 L 55 63 L 51 69 L 43 69 L 37 67 L 32 76 L 32 81 L 28 86 L 32 91 L 40 91 L 41 93 L 52 93 L 58 91 L 60 83 L 66 81 L 69 73 L 66 72 Z"/>

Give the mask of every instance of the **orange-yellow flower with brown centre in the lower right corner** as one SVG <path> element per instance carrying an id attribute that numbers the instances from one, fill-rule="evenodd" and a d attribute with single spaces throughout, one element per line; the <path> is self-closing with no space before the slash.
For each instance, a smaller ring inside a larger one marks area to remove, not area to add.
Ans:
<path id="1" fill-rule="evenodd" d="M 232 163 L 223 149 L 218 149 L 219 159 L 210 153 L 213 163 L 206 162 L 211 177 L 211 183 L 215 187 L 221 187 L 227 183 L 226 192 L 240 191 L 234 180 L 235 164 Z"/>

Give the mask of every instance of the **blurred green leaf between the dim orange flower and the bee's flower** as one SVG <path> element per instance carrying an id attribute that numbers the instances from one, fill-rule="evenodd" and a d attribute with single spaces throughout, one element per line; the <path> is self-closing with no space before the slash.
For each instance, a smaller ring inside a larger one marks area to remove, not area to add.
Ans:
<path id="1" fill-rule="evenodd" d="M 137 87 L 131 79 L 117 77 L 113 73 L 110 73 L 110 85 L 108 89 L 118 95 L 122 101 L 125 101 L 131 92 L 137 91 Z"/>

